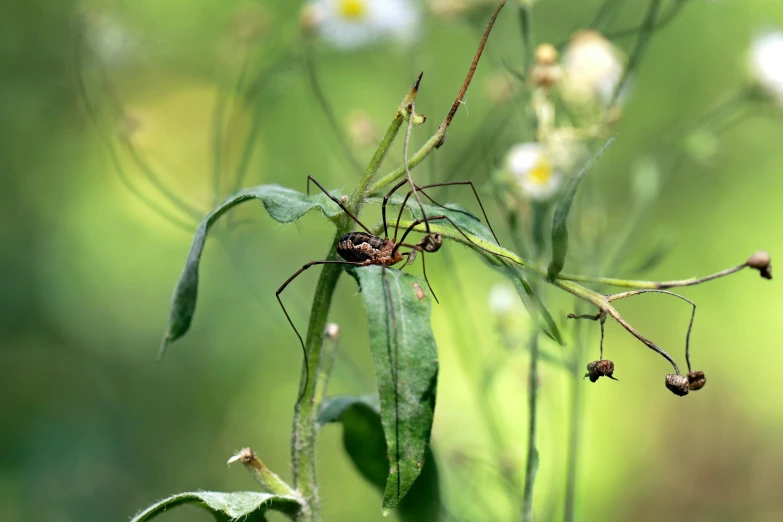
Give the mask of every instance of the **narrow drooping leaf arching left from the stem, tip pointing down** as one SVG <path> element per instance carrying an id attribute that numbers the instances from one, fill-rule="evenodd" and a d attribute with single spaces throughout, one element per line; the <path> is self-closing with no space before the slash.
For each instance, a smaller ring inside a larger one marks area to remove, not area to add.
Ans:
<path id="1" fill-rule="evenodd" d="M 260 185 L 243 189 L 223 201 L 204 218 L 193 236 L 185 268 L 174 288 L 169 326 L 161 342 L 159 357 L 163 357 L 168 345 L 185 335 L 190 328 L 196 311 L 199 263 L 209 230 L 227 211 L 254 199 L 260 200 L 272 219 L 280 223 L 296 221 L 314 209 L 319 209 L 328 218 L 342 214 L 340 207 L 323 193 L 308 196 L 279 185 Z"/>

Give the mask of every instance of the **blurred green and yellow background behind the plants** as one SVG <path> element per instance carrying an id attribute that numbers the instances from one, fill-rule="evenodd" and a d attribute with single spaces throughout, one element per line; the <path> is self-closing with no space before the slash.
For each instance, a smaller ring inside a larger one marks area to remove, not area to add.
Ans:
<path id="1" fill-rule="evenodd" d="M 536 38 L 567 38 L 590 20 L 597 4 L 540 2 Z M 605 201 L 607 234 L 620 230 L 631 210 L 634 162 L 678 124 L 696 120 L 746 83 L 749 41 L 761 29 L 783 25 L 777 0 L 688 4 L 652 41 L 617 142 L 591 178 Z M 616 26 L 633 25 L 646 5 L 627 2 Z M 234 232 L 220 233 L 207 245 L 193 330 L 156 363 L 190 236 L 132 196 L 105 141 L 133 140 L 167 184 L 206 212 L 215 198 L 216 100 L 231 91 L 252 47 L 254 66 L 282 67 L 268 75 L 256 105 L 245 107 L 240 100 L 233 108 L 221 168 L 228 172 L 239 161 L 252 111 L 259 107 L 246 185 L 303 190 L 305 177 L 313 174 L 327 187 L 350 190 L 358 174 L 340 152 L 305 75 L 286 65 L 290 53 L 302 50 L 300 5 L 41 0 L 3 6 L 0 520 L 127 520 L 179 491 L 254 489 L 239 466 L 225 465 L 234 450 L 248 445 L 288 478 L 301 354 L 274 291 L 303 263 L 322 258 L 331 225 L 309 215 L 281 226 L 260 205 L 241 208 Z M 492 105 L 493 72 L 504 63 L 521 63 L 515 6 L 509 7 L 490 39 L 466 110 L 457 115 L 435 163 L 417 171 L 424 179 L 438 179 L 469 149 Z M 361 110 L 385 127 L 421 70 L 417 109 L 439 121 L 459 88 L 484 18 L 478 24 L 428 19 L 414 50 L 381 45 L 348 53 L 316 46 L 319 79 L 340 122 Z M 107 24 L 108 36 L 96 37 L 108 38 L 103 65 L 97 67 L 94 57 L 78 62 L 74 49 L 80 38 L 95 37 Z M 111 112 L 112 98 L 120 100 L 124 125 L 92 126 L 77 73 L 102 114 Z M 668 180 L 634 253 L 662 237 L 671 250 L 646 278 L 706 275 L 760 248 L 773 259 L 783 252 L 781 115 L 771 107 L 755 112 L 722 134 L 708 159 L 686 160 Z M 507 144 L 529 138 L 513 125 L 504 132 Z M 414 138 L 419 142 L 426 137 L 420 134 Z M 365 161 L 372 147 L 358 145 L 355 151 Z M 486 181 L 488 162 L 497 161 L 487 156 L 461 177 L 479 185 Z M 384 171 L 400 158 L 396 150 Z M 148 188 L 126 156 L 119 161 Z M 229 185 L 221 185 L 220 197 Z M 457 192 L 450 191 L 450 199 L 452 194 Z M 371 223 L 379 219 L 374 208 L 364 215 Z M 490 218 L 501 220 L 497 212 Z M 444 474 L 444 499 L 466 519 L 515 519 L 516 499 L 505 498 L 491 480 L 472 480 L 459 471 L 465 454 L 491 460 L 480 415 L 490 405 L 466 385 L 473 376 L 458 362 L 458 351 L 465 353 L 467 345 L 470 368 L 497 350 L 495 319 L 486 302 L 499 277 L 468 250 L 448 250 L 448 258 L 428 261 L 441 300 L 433 313 L 441 361 L 433 445 Z M 302 329 L 313 272 L 285 295 Z M 662 359 L 616 325 L 608 327 L 607 350 L 621 380 L 580 383 L 585 411 L 579 520 L 783 519 L 783 394 L 777 385 L 783 301 L 776 288 L 777 281 L 767 284 L 741 272 L 684 292 L 699 303 L 694 359 L 709 378 L 705 390 L 685 399 L 664 389 L 668 370 Z M 354 282 L 343 278 L 332 320 L 343 328 L 345 356 L 338 360 L 332 393 L 372 389 L 364 312 L 355 294 Z M 553 303 L 558 317 L 570 311 L 568 300 Z M 618 308 L 681 360 L 685 305 L 643 296 Z M 468 326 L 455 328 L 459 322 Z M 597 328 L 588 325 L 588 331 L 593 344 L 584 363 L 597 349 Z M 523 464 L 526 445 L 526 364 L 523 353 L 511 354 L 492 394 L 507 458 L 517 465 Z M 541 379 L 536 513 L 538 520 L 556 520 L 562 516 L 570 379 L 546 365 Z M 339 427 L 327 427 L 320 437 L 318 469 L 326 520 L 382 518 L 380 495 L 343 455 Z M 482 506 L 494 506 L 484 518 L 478 515 Z M 210 516 L 186 508 L 160 520 Z"/>

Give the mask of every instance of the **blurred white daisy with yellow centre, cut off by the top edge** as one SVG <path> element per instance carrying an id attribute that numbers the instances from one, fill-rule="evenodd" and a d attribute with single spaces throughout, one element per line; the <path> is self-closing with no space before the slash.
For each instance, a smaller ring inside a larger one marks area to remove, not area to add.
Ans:
<path id="1" fill-rule="evenodd" d="M 409 42 L 421 21 L 411 0 L 311 0 L 306 17 L 321 38 L 342 49 L 385 38 Z"/>

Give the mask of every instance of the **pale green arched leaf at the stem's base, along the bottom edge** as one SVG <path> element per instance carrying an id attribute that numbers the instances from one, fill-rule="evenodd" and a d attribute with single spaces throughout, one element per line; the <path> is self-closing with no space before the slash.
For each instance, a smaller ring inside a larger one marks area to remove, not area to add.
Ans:
<path id="1" fill-rule="evenodd" d="M 294 497 L 254 491 L 238 491 L 236 493 L 197 491 L 195 493 L 179 493 L 156 502 L 133 517 L 131 522 L 152 520 L 164 511 L 184 504 L 194 504 L 206 509 L 217 520 L 241 519 L 247 522 L 262 522 L 265 520 L 264 514 L 268 510 L 281 511 L 293 517 L 301 508 L 301 504 Z"/>

